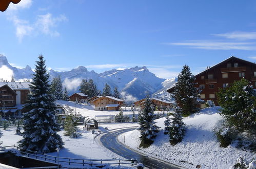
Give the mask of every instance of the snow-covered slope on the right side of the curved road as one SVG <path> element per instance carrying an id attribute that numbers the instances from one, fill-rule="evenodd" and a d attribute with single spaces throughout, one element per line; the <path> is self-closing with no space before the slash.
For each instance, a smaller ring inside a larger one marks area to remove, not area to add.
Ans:
<path id="1" fill-rule="evenodd" d="M 125 140 L 125 144 L 132 149 L 188 168 L 201 165 L 201 168 L 222 169 L 229 168 L 239 157 L 244 157 L 248 161 L 256 159 L 255 153 L 237 149 L 233 144 L 226 148 L 220 147 L 212 131 L 222 119 L 218 114 L 219 108 L 206 108 L 200 113 L 184 118 L 183 121 L 187 125 L 186 135 L 182 142 L 174 146 L 169 143 L 169 136 L 163 132 L 165 118 L 156 120 L 156 125 L 161 127 L 161 131 L 147 149 L 139 148 L 138 130 L 120 135 L 119 141 L 124 143 L 124 137 L 129 138 Z"/>

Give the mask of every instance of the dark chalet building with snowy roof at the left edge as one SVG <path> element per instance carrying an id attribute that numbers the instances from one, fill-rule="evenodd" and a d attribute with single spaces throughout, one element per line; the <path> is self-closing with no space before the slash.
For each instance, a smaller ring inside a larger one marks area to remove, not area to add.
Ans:
<path id="1" fill-rule="evenodd" d="M 0 82 L 0 112 L 2 117 L 21 116 L 29 94 L 30 82 Z"/>

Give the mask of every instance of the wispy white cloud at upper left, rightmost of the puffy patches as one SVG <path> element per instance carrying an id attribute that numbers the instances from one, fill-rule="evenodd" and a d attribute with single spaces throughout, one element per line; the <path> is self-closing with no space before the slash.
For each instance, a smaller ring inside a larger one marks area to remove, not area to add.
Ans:
<path id="1" fill-rule="evenodd" d="M 60 15 L 57 17 L 52 17 L 51 13 L 47 13 L 45 15 L 38 15 L 35 27 L 38 28 L 42 33 L 50 36 L 59 36 L 56 30 L 52 30 L 51 28 L 56 27 L 57 23 L 66 21 L 67 18 L 64 15 Z"/>

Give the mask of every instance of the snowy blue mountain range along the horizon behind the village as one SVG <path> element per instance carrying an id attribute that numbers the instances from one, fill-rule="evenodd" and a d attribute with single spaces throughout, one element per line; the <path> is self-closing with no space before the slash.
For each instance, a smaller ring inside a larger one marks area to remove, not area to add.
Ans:
<path id="1" fill-rule="evenodd" d="M 29 66 L 23 69 L 11 66 L 6 56 L 0 54 L 0 68 L 3 66 L 12 70 L 16 81 L 31 79 L 34 73 Z M 152 97 L 164 98 L 170 101 L 171 97 L 170 94 L 166 92 L 166 89 L 172 87 L 176 81 L 176 78 L 159 78 L 151 73 L 145 66 L 136 66 L 124 70 L 112 69 L 103 73 L 96 73 L 93 70 L 88 71 L 85 67 L 79 66 L 70 71 L 62 72 L 51 69 L 49 74 L 50 78 L 60 75 L 63 86 L 68 89 L 69 94 L 78 91 L 82 79 L 93 79 L 98 90 L 102 91 L 105 83 L 108 83 L 112 91 L 117 87 L 126 102 L 145 98 L 147 93 L 152 95 Z"/>

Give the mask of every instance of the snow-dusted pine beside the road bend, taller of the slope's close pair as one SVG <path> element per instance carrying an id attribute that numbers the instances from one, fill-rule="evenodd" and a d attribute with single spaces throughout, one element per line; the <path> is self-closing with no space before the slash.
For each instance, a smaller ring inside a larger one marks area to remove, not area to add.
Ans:
<path id="1" fill-rule="evenodd" d="M 143 110 L 139 116 L 139 131 L 141 132 L 140 147 L 146 148 L 154 142 L 156 134 L 159 132 L 159 127 L 154 122 L 154 111 L 151 108 L 151 99 L 149 95 L 145 99 Z"/>

